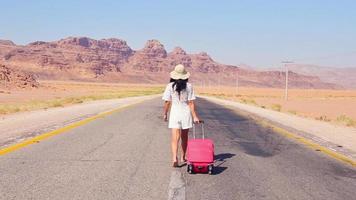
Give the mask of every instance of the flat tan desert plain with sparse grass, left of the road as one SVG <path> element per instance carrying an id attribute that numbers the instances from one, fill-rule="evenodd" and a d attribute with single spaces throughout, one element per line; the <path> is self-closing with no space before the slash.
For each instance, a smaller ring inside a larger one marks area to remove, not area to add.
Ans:
<path id="1" fill-rule="evenodd" d="M 37 88 L 0 89 L 0 115 L 102 99 L 159 94 L 162 85 L 39 81 Z"/>

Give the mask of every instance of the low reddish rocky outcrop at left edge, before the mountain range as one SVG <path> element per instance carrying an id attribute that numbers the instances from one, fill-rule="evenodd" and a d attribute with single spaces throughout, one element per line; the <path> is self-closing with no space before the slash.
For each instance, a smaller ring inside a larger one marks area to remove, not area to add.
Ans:
<path id="1" fill-rule="evenodd" d="M 32 74 L 0 65 L 0 88 L 36 88 L 38 85 Z"/>

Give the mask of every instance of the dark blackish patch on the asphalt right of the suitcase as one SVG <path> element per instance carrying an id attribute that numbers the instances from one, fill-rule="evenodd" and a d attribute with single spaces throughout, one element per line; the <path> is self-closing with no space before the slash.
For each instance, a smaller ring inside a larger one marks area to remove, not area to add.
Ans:
<path id="1" fill-rule="evenodd" d="M 237 112 L 204 99 L 199 99 L 199 105 L 206 108 L 199 110 L 199 113 L 206 121 L 207 136 L 214 141 L 222 139 L 220 135 L 224 134 L 234 147 L 258 157 L 272 157 L 295 145 L 274 133 L 272 129 L 258 124 L 248 113 Z M 224 140 L 227 143 L 226 139 Z M 216 143 L 216 146 L 219 145 L 221 144 Z"/>

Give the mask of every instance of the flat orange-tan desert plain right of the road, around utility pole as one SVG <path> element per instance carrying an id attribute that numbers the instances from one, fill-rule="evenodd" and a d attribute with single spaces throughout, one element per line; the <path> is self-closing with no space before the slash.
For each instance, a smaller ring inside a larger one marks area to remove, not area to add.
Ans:
<path id="1" fill-rule="evenodd" d="M 292 115 L 356 126 L 356 90 L 197 87 L 201 94 L 255 105 Z"/>

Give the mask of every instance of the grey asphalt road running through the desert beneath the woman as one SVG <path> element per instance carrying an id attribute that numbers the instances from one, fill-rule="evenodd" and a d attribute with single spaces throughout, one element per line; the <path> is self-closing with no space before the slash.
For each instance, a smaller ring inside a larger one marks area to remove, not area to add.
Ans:
<path id="1" fill-rule="evenodd" d="M 356 170 L 199 99 L 216 173 L 171 168 L 150 100 L 0 156 L 0 199 L 355 199 Z"/>

